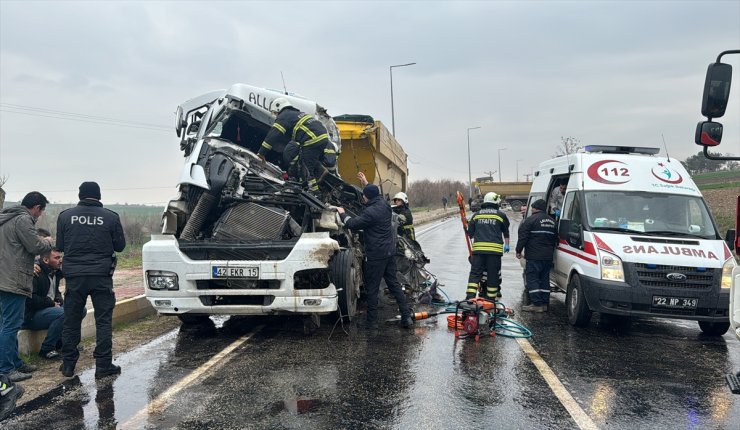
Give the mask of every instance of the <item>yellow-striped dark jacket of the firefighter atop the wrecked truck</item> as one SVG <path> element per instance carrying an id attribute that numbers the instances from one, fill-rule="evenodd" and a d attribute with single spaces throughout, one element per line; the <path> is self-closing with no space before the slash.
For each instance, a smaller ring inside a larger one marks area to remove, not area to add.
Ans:
<path id="1" fill-rule="evenodd" d="M 297 109 L 285 108 L 278 114 L 272 128 L 267 132 L 259 154 L 265 155 L 270 150 L 282 153 L 291 141 L 302 147 L 310 146 L 319 142 L 328 142 L 329 133 L 324 124 L 313 115 Z"/>

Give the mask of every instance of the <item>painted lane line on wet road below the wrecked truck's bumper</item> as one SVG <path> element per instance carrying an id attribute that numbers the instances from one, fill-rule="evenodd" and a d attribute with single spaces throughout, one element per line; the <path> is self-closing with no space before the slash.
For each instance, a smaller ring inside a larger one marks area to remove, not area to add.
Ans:
<path id="1" fill-rule="evenodd" d="M 121 425 L 121 428 L 127 429 L 138 429 L 143 428 L 142 421 L 146 419 L 148 416 L 160 412 L 163 410 L 170 402 L 173 396 L 175 396 L 177 393 L 182 391 L 183 388 L 187 387 L 188 385 L 192 384 L 193 382 L 197 381 L 198 379 L 201 379 L 206 373 L 213 370 L 216 371 L 223 367 L 224 364 L 226 364 L 231 357 L 228 357 L 228 355 L 234 351 L 235 349 L 239 348 L 241 345 L 243 345 L 245 342 L 247 342 L 249 339 L 252 338 L 255 334 L 257 334 L 260 330 L 264 328 L 264 325 L 257 326 L 254 331 L 245 334 L 244 336 L 240 337 L 239 339 L 232 342 L 229 346 L 221 350 L 218 354 L 211 357 L 210 360 L 203 363 L 199 368 L 193 370 L 190 372 L 187 376 L 177 381 L 176 384 L 172 385 L 170 388 L 162 392 L 160 395 L 158 395 L 154 400 L 149 402 L 147 406 L 139 410 L 134 416 L 126 420 Z"/>

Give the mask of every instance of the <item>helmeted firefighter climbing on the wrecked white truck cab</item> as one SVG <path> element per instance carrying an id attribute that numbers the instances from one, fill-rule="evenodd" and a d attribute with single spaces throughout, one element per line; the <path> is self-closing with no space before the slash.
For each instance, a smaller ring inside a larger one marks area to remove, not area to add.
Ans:
<path id="1" fill-rule="evenodd" d="M 327 171 L 321 164 L 324 150 L 329 143 L 326 127 L 313 115 L 293 107 L 284 97 L 273 100 L 270 111 L 276 115 L 275 122 L 267 132 L 257 155 L 263 161 L 271 150 L 282 155 L 288 143 L 295 142 L 300 147 L 298 159 L 307 171 L 308 189 L 313 193 L 318 192 L 318 183 Z"/>

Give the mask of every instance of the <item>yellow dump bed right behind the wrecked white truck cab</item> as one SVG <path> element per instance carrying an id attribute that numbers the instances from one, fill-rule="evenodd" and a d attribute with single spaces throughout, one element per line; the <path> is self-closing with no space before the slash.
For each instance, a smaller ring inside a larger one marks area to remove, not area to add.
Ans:
<path id="1" fill-rule="evenodd" d="M 342 138 L 338 161 L 342 179 L 360 186 L 357 172 L 363 172 L 383 194 L 392 197 L 406 191 L 408 156 L 383 123 L 368 115 L 341 115 L 334 121 Z"/>

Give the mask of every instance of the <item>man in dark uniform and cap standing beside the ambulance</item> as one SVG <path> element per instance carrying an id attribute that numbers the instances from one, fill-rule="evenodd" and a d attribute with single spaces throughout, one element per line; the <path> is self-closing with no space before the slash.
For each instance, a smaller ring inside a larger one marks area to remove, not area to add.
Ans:
<path id="1" fill-rule="evenodd" d="M 546 312 L 550 303 L 550 269 L 558 243 L 555 220 L 545 209 L 547 203 L 539 199 L 532 203 L 532 215 L 519 225 L 516 242 L 516 258 L 522 258 L 526 250 L 525 266 L 527 291 L 531 305 L 522 306 L 525 312 Z"/>

